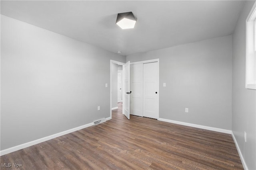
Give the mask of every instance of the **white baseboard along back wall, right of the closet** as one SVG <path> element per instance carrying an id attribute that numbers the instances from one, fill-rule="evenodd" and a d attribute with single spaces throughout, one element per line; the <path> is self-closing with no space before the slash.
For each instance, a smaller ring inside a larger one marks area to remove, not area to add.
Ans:
<path id="1" fill-rule="evenodd" d="M 159 118 L 158 120 L 159 121 L 169 122 L 169 123 L 175 123 L 175 124 L 179 124 L 179 125 L 196 127 L 196 128 L 200 128 L 200 129 L 206 129 L 206 130 L 210 130 L 210 131 L 216 131 L 216 132 L 221 132 L 221 133 L 232 134 L 232 131 L 231 130 L 227 130 L 227 129 L 220 129 L 220 128 L 209 127 L 209 126 L 204 126 L 204 125 L 196 125 L 196 124 L 192 124 L 192 123 L 186 123 L 186 122 L 175 121 L 175 120 L 170 120 L 170 119 L 163 119 L 163 118 Z"/>

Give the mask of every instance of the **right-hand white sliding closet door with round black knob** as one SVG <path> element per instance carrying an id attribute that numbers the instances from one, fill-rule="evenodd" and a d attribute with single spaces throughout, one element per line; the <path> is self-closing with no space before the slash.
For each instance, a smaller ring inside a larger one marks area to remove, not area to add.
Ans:
<path id="1" fill-rule="evenodd" d="M 159 118 L 158 63 L 143 64 L 143 116 Z"/>

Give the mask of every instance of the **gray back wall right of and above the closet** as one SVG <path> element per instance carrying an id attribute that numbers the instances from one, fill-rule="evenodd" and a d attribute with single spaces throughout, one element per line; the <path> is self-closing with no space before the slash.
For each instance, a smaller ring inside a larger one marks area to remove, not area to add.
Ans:
<path id="1" fill-rule="evenodd" d="M 126 61 L 157 58 L 160 118 L 231 130 L 231 35 L 131 55 Z"/>

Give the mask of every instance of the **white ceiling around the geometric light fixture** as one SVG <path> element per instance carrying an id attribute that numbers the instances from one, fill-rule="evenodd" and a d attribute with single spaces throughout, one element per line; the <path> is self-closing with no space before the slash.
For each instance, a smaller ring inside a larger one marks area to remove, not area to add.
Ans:
<path id="1" fill-rule="evenodd" d="M 230 35 L 244 1 L 3 1 L 1 14 L 122 55 Z M 134 29 L 116 16 L 133 12 Z"/>

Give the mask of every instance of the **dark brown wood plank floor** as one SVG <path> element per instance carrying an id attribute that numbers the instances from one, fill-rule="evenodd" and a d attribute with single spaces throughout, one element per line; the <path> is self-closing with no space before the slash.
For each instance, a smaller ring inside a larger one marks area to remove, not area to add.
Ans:
<path id="1" fill-rule="evenodd" d="M 231 135 L 122 114 L 1 156 L 24 170 L 58 169 L 243 169 Z M 12 169 L 1 167 L 1 170 Z"/>

